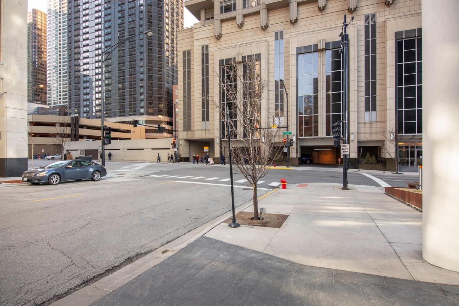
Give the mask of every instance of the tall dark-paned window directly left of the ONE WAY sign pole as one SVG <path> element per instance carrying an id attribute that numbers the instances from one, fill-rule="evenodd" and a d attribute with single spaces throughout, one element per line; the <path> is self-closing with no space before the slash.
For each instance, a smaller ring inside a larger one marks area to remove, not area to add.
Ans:
<path id="1" fill-rule="evenodd" d="M 331 125 L 341 120 L 343 75 L 339 49 L 325 51 L 325 122 L 326 135 L 331 136 Z M 342 129 L 341 129 L 342 130 Z"/>

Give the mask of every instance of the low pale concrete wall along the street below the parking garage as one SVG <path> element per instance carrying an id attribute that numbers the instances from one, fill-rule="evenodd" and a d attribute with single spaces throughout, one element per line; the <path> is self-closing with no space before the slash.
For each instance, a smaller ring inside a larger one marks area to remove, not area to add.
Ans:
<path id="1" fill-rule="evenodd" d="M 139 160 L 157 161 L 157 153 L 161 161 L 167 161 L 168 153 L 174 154 L 171 146 L 172 138 L 161 139 L 136 139 L 136 140 L 113 140 L 112 144 L 105 147 L 105 157 L 112 153 L 112 160 Z M 100 142 L 71 142 L 68 151 L 74 158 L 80 156 L 80 150 L 95 150 L 100 147 Z"/>

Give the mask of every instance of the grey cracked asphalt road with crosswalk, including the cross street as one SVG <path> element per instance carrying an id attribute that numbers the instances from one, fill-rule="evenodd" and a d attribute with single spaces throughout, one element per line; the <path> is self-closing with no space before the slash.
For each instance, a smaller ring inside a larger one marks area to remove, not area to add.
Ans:
<path id="1" fill-rule="evenodd" d="M 34 161 L 50 164 L 54 161 Z M 107 162 L 101 181 L 2 187 L 0 305 L 38 305 L 224 214 L 231 208 L 229 167 L 190 163 Z M 341 183 L 341 169 L 270 170 L 258 194 L 289 184 Z M 143 177 L 128 178 L 132 174 Z M 391 186 L 417 176 L 371 173 Z M 234 171 L 235 202 L 252 197 Z M 261 182 L 263 181 L 263 182 Z M 381 186 L 360 172 L 349 184 Z"/>

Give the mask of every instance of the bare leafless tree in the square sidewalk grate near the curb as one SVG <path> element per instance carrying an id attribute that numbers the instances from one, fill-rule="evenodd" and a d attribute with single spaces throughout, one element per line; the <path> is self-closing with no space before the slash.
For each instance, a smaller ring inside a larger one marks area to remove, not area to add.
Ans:
<path id="1" fill-rule="evenodd" d="M 252 184 L 253 218 L 258 220 L 257 181 L 265 176 L 273 161 L 280 157 L 284 143 L 272 129 L 275 114 L 270 108 L 262 112 L 267 83 L 261 77 L 260 62 L 247 56 L 243 63 L 231 62 L 220 68 L 220 97 L 210 98 L 221 115 L 220 135 L 225 151 L 231 137 L 231 157 L 239 172 Z M 230 135 L 228 135 L 228 126 Z"/>

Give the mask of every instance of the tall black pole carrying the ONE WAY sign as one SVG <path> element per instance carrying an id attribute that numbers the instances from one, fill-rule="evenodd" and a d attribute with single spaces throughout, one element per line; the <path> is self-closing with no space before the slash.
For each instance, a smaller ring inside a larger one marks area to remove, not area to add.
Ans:
<path id="1" fill-rule="evenodd" d="M 352 18 L 351 18 L 352 21 Z M 344 94 L 343 94 L 343 143 L 348 144 L 348 120 L 347 120 L 347 107 L 348 107 L 348 97 L 349 97 L 349 84 L 347 80 L 347 74 L 348 74 L 348 69 L 349 69 L 349 63 L 348 63 L 348 38 L 347 38 L 347 23 L 346 23 L 346 15 L 344 15 L 344 24 L 343 24 L 343 34 L 341 37 L 342 41 L 342 56 L 343 56 L 343 70 L 344 70 L 344 76 L 343 76 L 343 83 L 344 83 Z M 343 187 L 342 189 L 349 189 L 347 187 L 347 154 L 343 154 Z"/>

